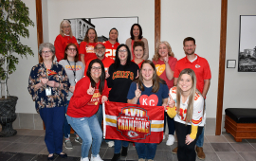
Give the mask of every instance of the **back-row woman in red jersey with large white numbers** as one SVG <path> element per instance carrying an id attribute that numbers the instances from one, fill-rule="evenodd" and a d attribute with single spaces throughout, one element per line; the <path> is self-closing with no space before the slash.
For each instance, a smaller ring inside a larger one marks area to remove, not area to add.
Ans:
<path id="1" fill-rule="evenodd" d="M 116 56 L 116 50 L 119 46 L 119 31 L 117 28 L 111 28 L 109 31 L 109 39 L 108 41 L 104 42 L 104 45 L 106 47 L 105 56 L 107 58 L 111 58 L 115 60 Z"/>

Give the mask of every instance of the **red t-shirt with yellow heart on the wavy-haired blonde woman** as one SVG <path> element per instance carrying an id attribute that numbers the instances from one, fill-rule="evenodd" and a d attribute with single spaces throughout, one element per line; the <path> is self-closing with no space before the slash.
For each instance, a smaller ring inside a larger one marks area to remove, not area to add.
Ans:
<path id="1" fill-rule="evenodd" d="M 163 61 L 161 61 L 160 59 L 158 59 L 158 62 L 156 63 L 155 61 L 153 61 L 153 63 L 155 64 L 155 68 L 156 68 L 156 74 L 163 80 L 166 81 L 168 88 L 172 88 L 174 86 L 174 79 L 173 80 L 168 80 L 167 76 L 166 76 L 166 71 L 165 71 L 165 63 Z M 174 71 L 175 68 L 175 64 L 177 63 L 177 59 L 174 57 L 169 57 L 169 61 L 168 61 L 171 69 Z"/>

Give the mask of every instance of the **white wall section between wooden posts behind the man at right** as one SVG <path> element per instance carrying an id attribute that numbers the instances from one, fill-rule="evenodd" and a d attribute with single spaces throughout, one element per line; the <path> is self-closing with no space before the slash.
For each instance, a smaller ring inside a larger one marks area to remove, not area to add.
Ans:
<path id="1" fill-rule="evenodd" d="M 207 117 L 216 116 L 221 0 L 162 0 L 161 40 L 172 46 L 174 56 L 185 57 L 183 40 L 195 39 L 195 53 L 210 63 L 211 80 L 207 95 Z"/>

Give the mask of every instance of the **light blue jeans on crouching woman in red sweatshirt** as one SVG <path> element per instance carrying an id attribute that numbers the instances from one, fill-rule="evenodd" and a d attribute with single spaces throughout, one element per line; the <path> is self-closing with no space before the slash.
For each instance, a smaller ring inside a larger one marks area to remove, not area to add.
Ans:
<path id="1" fill-rule="evenodd" d="M 92 145 L 92 154 L 97 156 L 101 148 L 102 131 L 97 116 L 71 117 L 66 116 L 68 123 L 82 138 L 82 158 L 88 157 Z"/>

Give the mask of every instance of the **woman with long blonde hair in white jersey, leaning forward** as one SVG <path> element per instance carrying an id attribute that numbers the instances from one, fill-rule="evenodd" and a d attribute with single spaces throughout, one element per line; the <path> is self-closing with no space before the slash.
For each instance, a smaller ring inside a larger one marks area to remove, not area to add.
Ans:
<path id="1" fill-rule="evenodd" d="M 167 114 L 174 117 L 179 161 L 195 161 L 194 146 L 205 124 L 204 98 L 196 90 L 192 69 L 179 74 L 177 86 L 170 89 Z"/>

